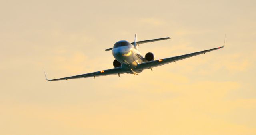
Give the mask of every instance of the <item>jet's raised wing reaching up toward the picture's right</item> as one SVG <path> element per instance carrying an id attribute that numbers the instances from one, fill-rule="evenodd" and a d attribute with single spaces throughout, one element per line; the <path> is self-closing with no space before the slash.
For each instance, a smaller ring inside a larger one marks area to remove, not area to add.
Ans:
<path id="1" fill-rule="evenodd" d="M 139 64 L 137 66 L 136 70 L 148 69 L 148 68 L 152 68 L 152 67 L 161 66 L 161 65 L 164 65 L 164 64 L 168 64 L 168 63 L 171 63 L 171 62 L 176 62 L 178 60 L 186 59 L 186 58 L 196 56 L 196 55 L 199 55 L 199 54 L 205 54 L 206 52 L 210 52 L 210 51 L 217 50 L 217 49 L 220 49 L 220 48 L 224 48 L 224 45 L 221 46 L 221 47 L 218 47 L 218 48 L 213 48 L 213 49 L 204 50 L 204 51 L 200 51 L 200 52 L 194 52 L 194 53 L 191 53 L 191 54 L 184 54 L 184 55 L 181 55 L 181 56 L 175 56 L 175 57 L 170 57 L 170 58 L 165 58 L 165 59 L 160 59 L 160 60 L 154 60 L 154 61 L 150 61 L 150 62 L 144 62 L 144 63 Z"/>

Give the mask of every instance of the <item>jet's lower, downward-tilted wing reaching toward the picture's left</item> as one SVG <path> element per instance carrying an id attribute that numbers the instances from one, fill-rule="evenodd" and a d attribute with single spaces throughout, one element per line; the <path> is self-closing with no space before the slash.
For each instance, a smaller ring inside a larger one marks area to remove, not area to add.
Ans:
<path id="1" fill-rule="evenodd" d="M 68 80 L 68 79 L 77 79 L 77 78 L 87 78 L 87 77 L 96 77 L 96 76 L 105 76 L 105 75 L 120 75 L 122 73 L 127 73 L 130 72 L 130 70 L 124 70 L 121 67 L 113 68 L 113 69 L 108 69 L 108 70 L 102 70 L 102 71 L 97 71 L 93 73 L 86 73 L 82 75 L 75 75 L 75 76 L 70 76 L 70 77 L 64 77 L 64 78 L 58 78 L 58 79 L 47 79 L 45 73 L 45 78 L 47 81 L 59 81 L 59 80 Z"/>

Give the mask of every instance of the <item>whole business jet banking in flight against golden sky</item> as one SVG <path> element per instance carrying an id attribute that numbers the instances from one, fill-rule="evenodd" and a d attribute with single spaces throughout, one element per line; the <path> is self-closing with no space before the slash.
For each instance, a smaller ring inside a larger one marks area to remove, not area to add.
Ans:
<path id="1" fill-rule="evenodd" d="M 200 52 L 194 52 L 190 54 L 184 54 L 184 55 L 175 56 L 175 57 L 170 57 L 170 58 L 155 60 L 155 56 L 152 52 L 146 53 L 145 57 L 143 57 L 140 51 L 138 50 L 138 46 L 140 44 L 155 42 L 160 40 L 167 40 L 167 39 L 170 39 L 170 37 L 137 41 L 137 34 L 135 34 L 134 42 L 130 43 L 128 41 L 121 40 L 116 42 L 113 48 L 109 48 L 105 50 L 105 51 L 112 50 L 112 55 L 115 58 L 115 60 L 113 61 L 114 68 L 112 69 L 96 71 L 93 73 L 86 73 L 82 75 L 58 78 L 58 79 L 50 79 L 50 80 L 47 79 L 45 72 L 44 72 L 44 75 L 47 81 L 59 81 L 59 80 L 69 80 L 69 79 L 78 79 L 78 78 L 87 78 L 87 77 L 94 77 L 95 79 L 95 77 L 105 76 L 105 75 L 118 75 L 120 77 L 120 74 L 123 74 L 123 73 L 138 75 L 138 73 L 141 73 L 145 69 L 152 70 L 153 67 L 162 66 L 164 64 L 176 62 L 178 60 L 183 60 L 192 56 L 205 54 L 206 52 L 224 48 L 226 35 L 225 35 L 224 45 L 221 47 L 212 48 L 212 49 L 204 50 Z"/>

